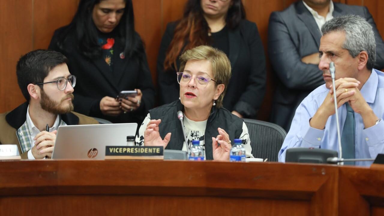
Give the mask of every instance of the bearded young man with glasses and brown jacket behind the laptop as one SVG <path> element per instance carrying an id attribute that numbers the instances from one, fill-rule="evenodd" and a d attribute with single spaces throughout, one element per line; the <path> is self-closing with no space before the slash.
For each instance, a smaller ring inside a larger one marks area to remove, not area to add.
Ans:
<path id="1" fill-rule="evenodd" d="M 23 159 L 51 158 L 60 125 L 98 124 L 73 112 L 76 77 L 66 62 L 63 54 L 48 50 L 29 52 L 17 62 L 18 85 L 27 101 L 0 114 L 0 144 L 17 144 Z"/>

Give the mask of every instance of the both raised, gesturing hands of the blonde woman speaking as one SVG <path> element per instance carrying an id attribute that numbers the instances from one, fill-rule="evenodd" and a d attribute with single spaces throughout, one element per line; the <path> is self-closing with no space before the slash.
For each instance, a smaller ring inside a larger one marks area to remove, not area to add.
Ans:
<path id="1" fill-rule="evenodd" d="M 160 123 L 161 119 L 149 121 L 144 131 L 144 146 L 163 146 L 164 149 L 167 147 L 171 133 L 167 133 L 163 140 L 159 133 Z M 219 134 L 212 137 L 213 158 L 218 161 L 229 161 L 229 153 L 232 148 L 229 135 L 222 128 L 217 128 L 217 131 Z"/>

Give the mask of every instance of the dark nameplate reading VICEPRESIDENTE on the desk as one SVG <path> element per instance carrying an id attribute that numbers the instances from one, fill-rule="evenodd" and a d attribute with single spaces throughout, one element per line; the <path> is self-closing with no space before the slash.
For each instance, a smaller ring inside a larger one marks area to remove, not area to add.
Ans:
<path id="1" fill-rule="evenodd" d="M 106 160 L 163 160 L 162 146 L 105 146 Z"/>

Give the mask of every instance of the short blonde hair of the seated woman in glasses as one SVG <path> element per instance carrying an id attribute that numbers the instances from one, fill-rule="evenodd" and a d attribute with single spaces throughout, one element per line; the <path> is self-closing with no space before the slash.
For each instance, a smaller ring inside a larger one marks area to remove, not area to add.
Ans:
<path id="1" fill-rule="evenodd" d="M 229 79 L 231 78 L 231 63 L 222 51 L 210 47 L 210 46 L 199 46 L 192 48 L 190 50 L 185 51 L 180 56 L 180 71 L 184 71 L 185 64 L 189 60 L 208 60 L 212 66 L 212 73 L 214 75 L 214 80 L 217 82 L 215 86 L 218 84 L 224 84 L 224 91 L 217 98 L 216 106 L 217 108 L 222 108 L 223 106 L 223 98 L 225 95 L 225 91 L 227 91 L 227 86 Z"/>

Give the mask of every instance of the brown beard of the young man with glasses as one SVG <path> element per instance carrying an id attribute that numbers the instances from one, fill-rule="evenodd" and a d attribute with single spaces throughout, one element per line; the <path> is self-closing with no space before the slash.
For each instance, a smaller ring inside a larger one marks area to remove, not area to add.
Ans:
<path id="1" fill-rule="evenodd" d="M 68 97 L 71 97 L 72 100 L 70 101 L 70 104 L 68 106 L 62 107 L 61 104 L 63 101 L 65 101 Z M 45 94 L 44 91 L 41 91 L 41 101 L 40 106 L 43 110 L 53 113 L 53 114 L 65 114 L 73 111 L 73 98 L 74 95 L 72 93 L 66 95 L 63 99 L 61 99 L 60 102 L 55 102 L 51 100 L 51 98 Z"/>

